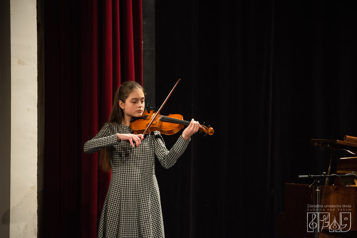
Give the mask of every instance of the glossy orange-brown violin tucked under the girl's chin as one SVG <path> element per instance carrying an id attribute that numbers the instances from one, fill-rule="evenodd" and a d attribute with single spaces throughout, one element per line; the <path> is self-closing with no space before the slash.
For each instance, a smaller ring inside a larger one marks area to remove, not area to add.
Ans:
<path id="1" fill-rule="evenodd" d="M 153 118 L 155 118 L 153 120 Z M 183 120 L 180 114 L 169 114 L 163 116 L 154 110 L 146 110 L 141 117 L 134 117 L 130 121 L 130 127 L 134 134 L 149 134 L 151 131 L 160 131 L 160 134 L 173 135 L 183 128 L 183 125 L 190 125 L 190 121 Z M 151 125 L 149 126 L 149 124 Z M 200 125 L 198 130 L 203 131 L 206 135 L 213 135 L 215 130 L 208 126 Z"/>

